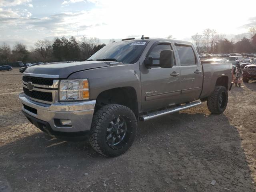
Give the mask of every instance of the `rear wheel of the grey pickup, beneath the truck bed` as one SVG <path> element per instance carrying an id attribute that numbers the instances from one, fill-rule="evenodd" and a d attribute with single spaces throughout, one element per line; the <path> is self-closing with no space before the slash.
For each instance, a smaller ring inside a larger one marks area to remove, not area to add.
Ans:
<path id="1" fill-rule="evenodd" d="M 221 114 L 228 104 L 228 91 L 224 86 L 215 86 L 214 92 L 208 97 L 207 106 L 211 113 Z"/>

